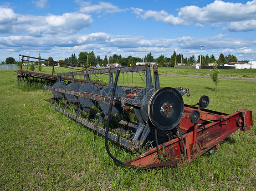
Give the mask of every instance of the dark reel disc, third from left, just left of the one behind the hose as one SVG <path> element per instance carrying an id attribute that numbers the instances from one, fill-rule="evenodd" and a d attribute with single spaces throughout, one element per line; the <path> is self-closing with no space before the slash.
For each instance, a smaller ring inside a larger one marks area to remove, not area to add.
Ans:
<path id="1" fill-rule="evenodd" d="M 82 87 L 79 89 L 80 92 L 87 92 L 87 93 L 95 93 L 99 94 L 100 90 L 98 87 L 94 84 L 84 84 Z M 83 107 L 92 107 L 94 106 L 94 103 L 90 99 L 87 98 L 78 98 L 79 102 L 82 104 Z"/>

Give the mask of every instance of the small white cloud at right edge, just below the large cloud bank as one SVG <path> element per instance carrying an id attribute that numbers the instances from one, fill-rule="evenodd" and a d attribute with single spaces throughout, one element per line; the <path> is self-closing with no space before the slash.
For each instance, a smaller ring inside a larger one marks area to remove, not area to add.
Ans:
<path id="1" fill-rule="evenodd" d="M 232 32 L 236 31 L 253 31 L 256 30 L 256 20 L 246 20 L 240 22 L 231 22 L 227 29 Z"/>

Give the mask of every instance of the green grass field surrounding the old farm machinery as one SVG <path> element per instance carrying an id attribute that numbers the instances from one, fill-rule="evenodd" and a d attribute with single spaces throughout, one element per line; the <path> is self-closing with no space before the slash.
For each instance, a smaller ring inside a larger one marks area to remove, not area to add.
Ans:
<path id="1" fill-rule="evenodd" d="M 43 67 L 42 72 L 49 71 Z M 189 75 L 198 72 L 188 71 Z M 255 70 L 237 72 L 225 75 L 255 78 Z M 256 190 L 256 81 L 220 79 L 214 91 L 209 78 L 160 75 L 161 87 L 190 89 L 191 96 L 183 97 L 186 104 L 208 95 L 209 109 L 224 113 L 252 110 L 253 126 L 250 131 L 233 133 L 220 150 L 187 166 L 146 171 L 114 163 L 105 151 L 104 137 L 51 108 L 44 101 L 51 93 L 36 85 L 33 91 L 18 88 L 13 73 L 0 69 L 0 190 Z M 107 81 L 108 77 L 99 79 Z M 120 74 L 118 84 L 144 86 L 143 79 L 136 73 Z M 138 155 L 109 145 L 121 161 Z"/>

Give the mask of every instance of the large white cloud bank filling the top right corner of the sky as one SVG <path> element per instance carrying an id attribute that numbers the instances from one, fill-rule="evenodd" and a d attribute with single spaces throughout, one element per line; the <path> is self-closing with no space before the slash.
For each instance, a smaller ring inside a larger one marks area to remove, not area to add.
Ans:
<path id="1" fill-rule="evenodd" d="M 185 6 L 179 9 L 178 16 L 171 15 L 165 10 L 145 11 L 139 8 L 132 8 L 132 10 L 133 14 L 143 20 L 153 19 L 170 25 L 196 23 L 196 27 L 213 24 L 212 27 L 218 27 L 222 22 L 238 22 L 256 18 L 256 0 L 248 1 L 246 4 L 215 0 L 202 8 L 194 5 Z M 252 28 L 254 24 L 249 30 Z"/>

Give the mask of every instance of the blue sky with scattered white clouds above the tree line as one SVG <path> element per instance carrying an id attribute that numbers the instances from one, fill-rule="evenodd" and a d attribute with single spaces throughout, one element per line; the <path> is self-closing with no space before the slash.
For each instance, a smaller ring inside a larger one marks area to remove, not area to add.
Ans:
<path id="1" fill-rule="evenodd" d="M 0 61 L 19 54 L 54 60 L 81 51 L 143 58 L 256 55 L 256 0 L 4 0 Z M 253 57 L 253 59 L 255 56 Z M 254 59 L 255 60 L 255 59 Z"/>

